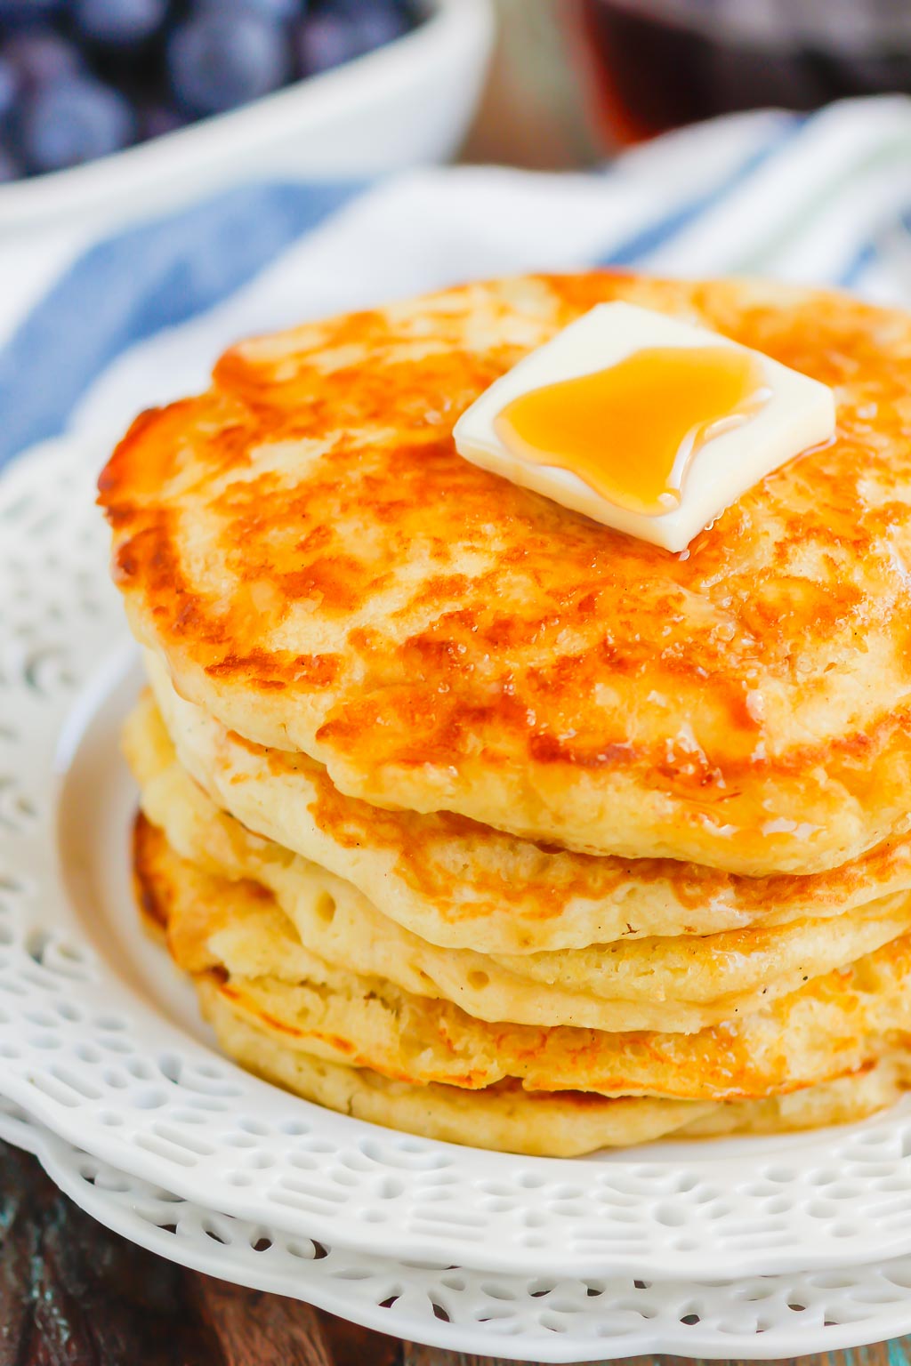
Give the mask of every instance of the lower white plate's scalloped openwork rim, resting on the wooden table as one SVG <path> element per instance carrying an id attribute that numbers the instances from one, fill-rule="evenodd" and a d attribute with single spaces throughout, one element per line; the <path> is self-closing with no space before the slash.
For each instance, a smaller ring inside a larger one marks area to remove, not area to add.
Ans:
<path id="1" fill-rule="evenodd" d="M 82 1209 L 149 1251 L 449 1351 L 535 1362 L 656 1352 L 761 1359 L 859 1347 L 911 1329 L 911 1258 L 735 1283 L 404 1265 L 206 1210 L 81 1153 L 1 1101 L 0 1137 L 34 1153 Z"/>

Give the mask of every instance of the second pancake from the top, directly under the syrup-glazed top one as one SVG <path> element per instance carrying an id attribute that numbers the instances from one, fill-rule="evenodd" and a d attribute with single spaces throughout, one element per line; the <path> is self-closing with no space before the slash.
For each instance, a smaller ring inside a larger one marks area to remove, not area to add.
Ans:
<path id="1" fill-rule="evenodd" d="M 384 811 L 343 796 L 306 755 L 242 740 L 178 697 L 154 656 L 146 663 L 180 762 L 219 806 L 447 948 L 516 955 L 772 928 L 911 889 L 907 833 L 825 873 L 748 878 L 672 859 L 555 850 L 447 811 Z"/>

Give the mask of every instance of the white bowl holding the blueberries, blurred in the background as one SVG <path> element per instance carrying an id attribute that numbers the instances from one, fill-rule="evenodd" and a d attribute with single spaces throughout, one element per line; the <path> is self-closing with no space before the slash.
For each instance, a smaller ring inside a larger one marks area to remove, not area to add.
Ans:
<path id="1" fill-rule="evenodd" d="M 490 0 L 428 0 L 403 38 L 231 113 L 70 171 L 0 186 L 0 234 L 123 223 L 249 179 L 374 176 L 444 161 L 493 38 Z"/>

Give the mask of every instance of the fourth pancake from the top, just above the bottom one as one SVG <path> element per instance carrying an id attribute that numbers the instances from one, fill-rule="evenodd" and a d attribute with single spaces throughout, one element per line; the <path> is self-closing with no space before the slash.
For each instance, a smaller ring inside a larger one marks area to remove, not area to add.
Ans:
<path id="1" fill-rule="evenodd" d="M 509 1081 L 527 1091 L 763 1100 L 869 1071 L 903 1049 L 911 1027 L 911 936 L 698 1034 L 534 1029 L 483 1023 L 325 963 L 292 936 L 261 884 L 205 873 L 143 818 L 134 867 L 145 914 L 165 928 L 178 967 L 205 975 L 234 1015 L 276 1046 L 410 1085 L 474 1091 Z M 296 979 L 232 971 L 232 945 L 281 933 Z"/>

